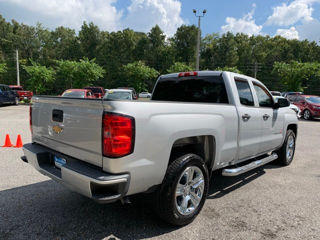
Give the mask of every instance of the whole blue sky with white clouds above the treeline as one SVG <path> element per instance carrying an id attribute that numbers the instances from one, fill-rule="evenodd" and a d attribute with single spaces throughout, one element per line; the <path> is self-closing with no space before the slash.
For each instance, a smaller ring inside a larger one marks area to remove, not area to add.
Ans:
<path id="1" fill-rule="evenodd" d="M 287 38 L 320 38 L 320 0 L 0 0 L 0 14 L 34 25 L 42 22 L 79 30 L 93 21 L 100 29 L 130 27 L 147 32 L 158 24 L 172 36 L 181 24 L 197 24 L 192 9 L 207 10 L 202 35 L 211 32 L 279 34 Z"/>

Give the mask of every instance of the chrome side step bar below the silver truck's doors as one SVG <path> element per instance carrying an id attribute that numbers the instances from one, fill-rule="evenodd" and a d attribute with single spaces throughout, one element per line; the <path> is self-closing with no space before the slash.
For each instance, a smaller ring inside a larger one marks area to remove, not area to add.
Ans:
<path id="1" fill-rule="evenodd" d="M 276 158 L 278 158 L 278 155 L 276 153 L 272 153 L 271 155 L 269 155 L 265 158 L 252 161 L 251 163 L 246 164 L 244 166 L 238 166 L 235 168 L 224 168 L 222 170 L 222 175 L 223 176 L 237 176 L 237 175 L 240 175 L 241 173 L 244 173 L 244 172 L 252 170 L 258 166 L 261 166 L 265 163 L 268 163 L 269 161 L 272 161 Z"/>

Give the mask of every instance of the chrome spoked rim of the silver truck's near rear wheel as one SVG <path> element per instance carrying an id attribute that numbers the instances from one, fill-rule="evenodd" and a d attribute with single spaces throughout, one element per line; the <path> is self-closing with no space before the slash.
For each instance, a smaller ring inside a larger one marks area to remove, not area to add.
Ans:
<path id="1" fill-rule="evenodd" d="M 196 166 L 187 167 L 179 177 L 175 189 L 175 206 L 181 215 L 191 214 L 199 205 L 204 190 L 202 171 Z"/>

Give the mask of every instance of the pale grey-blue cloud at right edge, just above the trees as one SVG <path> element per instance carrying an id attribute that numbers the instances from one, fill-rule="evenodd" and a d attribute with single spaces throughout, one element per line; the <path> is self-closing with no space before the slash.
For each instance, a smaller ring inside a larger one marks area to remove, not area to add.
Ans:
<path id="1" fill-rule="evenodd" d="M 297 25 L 295 27 L 299 32 L 300 40 L 308 39 L 308 40 L 315 40 L 319 42 L 320 40 L 320 21 L 317 19 L 305 19 L 302 20 L 301 25 Z"/>

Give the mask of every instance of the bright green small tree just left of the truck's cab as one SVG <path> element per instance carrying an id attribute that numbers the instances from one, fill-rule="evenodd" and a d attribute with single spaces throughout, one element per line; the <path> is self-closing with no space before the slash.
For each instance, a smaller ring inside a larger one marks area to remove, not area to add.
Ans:
<path id="1" fill-rule="evenodd" d="M 143 61 L 134 61 L 123 65 L 124 75 L 128 79 L 129 86 L 135 88 L 137 92 L 147 90 L 147 81 L 157 77 L 160 73 L 146 66 Z"/>

